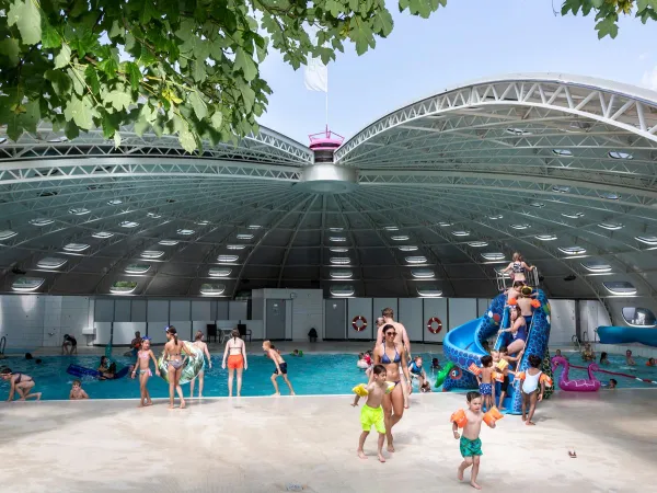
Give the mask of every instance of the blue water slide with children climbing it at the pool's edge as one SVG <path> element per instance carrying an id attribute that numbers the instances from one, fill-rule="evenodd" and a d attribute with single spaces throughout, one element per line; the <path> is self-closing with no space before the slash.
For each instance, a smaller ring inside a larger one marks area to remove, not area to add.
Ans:
<path id="1" fill-rule="evenodd" d="M 544 357 L 548 351 L 548 341 L 550 339 L 550 302 L 542 290 L 538 290 L 538 300 L 541 307 L 534 310 L 532 328 L 527 340 L 525 356 L 520 360 L 519 369 L 525 371 L 528 366 L 528 357 L 531 354 Z M 452 329 L 445 335 L 443 352 L 447 359 L 454 364 L 454 368 L 442 383 L 442 390 L 451 389 L 474 389 L 476 388 L 476 378 L 468 370 L 471 364 L 481 366 L 481 357 L 486 351 L 482 346 L 485 341 L 497 333 L 500 326 L 508 326 L 508 310 L 505 310 L 506 296 L 498 295 L 493 299 L 491 306 L 483 317 L 471 320 L 456 329 Z M 505 334 L 509 336 L 510 334 Z M 500 336 L 495 345 L 496 348 L 508 344 L 506 337 Z M 511 385 L 509 386 L 509 395 L 505 399 L 505 408 L 511 414 L 521 412 L 521 395 L 516 392 L 514 377 L 509 376 Z M 499 394 L 499 386 L 495 392 Z"/>

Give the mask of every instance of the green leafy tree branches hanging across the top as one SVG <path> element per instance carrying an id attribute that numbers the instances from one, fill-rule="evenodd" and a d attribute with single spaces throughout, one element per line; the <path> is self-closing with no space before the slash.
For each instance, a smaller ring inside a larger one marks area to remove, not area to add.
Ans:
<path id="1" fill-rule="evenodd" d="M 428 18 L 447 0 L 399 0 Z M 562 13 L 596 13 L 615 37 L 621 13 L 656 20 L 657 0 L 566 0 Z M 310 36 L 310 30 L 316 36 Z M 257 131 L 272 90 L 260 64 L 269 49 L 295 69 L 358 55 L 387 37 L 384 0 L 0 0 L 0 126 L 15 140 L 51 122 L 72 139 L 120 127 L 177 135 L 189 152 Z"/>

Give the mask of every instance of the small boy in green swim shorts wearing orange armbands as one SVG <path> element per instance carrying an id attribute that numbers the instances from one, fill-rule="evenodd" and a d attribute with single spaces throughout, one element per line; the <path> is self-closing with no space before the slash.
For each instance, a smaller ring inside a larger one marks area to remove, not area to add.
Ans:
<path id="1" fill-rule="evenodd" d="M 470 475 L 470 485 L 476 490 L 481 490 L 476 483 L 476 477 L 479 474 L 480 457 L 482 456 L 482 440 L 479 437 L 482 431 L 482 421 L 484 413 L 482 412 L 482 395 L 479 392 L 470 391 L 465 395 L 468 400 L 468 410 L 462 411 L 463 415 L 459 420 L 454 420 L 454 416 L 459 412 L 452 414 L 452 432 L 456 439 L 461 438 L 461 456 L 463 462 L 459 466 L 458 477 L 459 481 L 463 481 L 463 473 L 465 469 L 472 466 L 472 473 Z M 463 435 L 459 435 L 459 425 L 463 427 Z M 495 421 L 489 425 L 492 428 L 495 427 Z"/>

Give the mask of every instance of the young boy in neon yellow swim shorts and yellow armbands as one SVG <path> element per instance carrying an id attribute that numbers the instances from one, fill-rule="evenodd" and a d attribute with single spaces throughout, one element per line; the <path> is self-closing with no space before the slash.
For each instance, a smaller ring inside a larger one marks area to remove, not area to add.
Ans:
<path id="1" fill-rule="evenodd" d="M 379 442 L 377 444 L 377 454 L 380 462 L 385 462 L 385 458 L 383 457 L 383 442 L 385 440 L 385 422 L 383 419 L 383 408 L 381 406 L 381 402 L 383 402 L 383 395 L 387 392 L 388 383 L 385 382 L 385 367 L 383 365 L 374 365 L 372 368 L 373 379 L 371 383 L 365 385 L 361 387 L 365 392 L 367 392 L 367 402 L 360 410 L 360 424 L 362 425 L 362 433 L 360 434 L 360 438 L 358 439 L 358 457 L 361 459 L 367 459 L 362 447 L 365 446 L 365 440 L 369 436 L 370 429 L 372 425 L 379 433 Z M 365 393 L 364 392 L 364 393 Z M 354 399 L 354 403 L 351 404 L 354 408 L 358 405 L 358 400 L 360 395 L 357 393 Z"/>

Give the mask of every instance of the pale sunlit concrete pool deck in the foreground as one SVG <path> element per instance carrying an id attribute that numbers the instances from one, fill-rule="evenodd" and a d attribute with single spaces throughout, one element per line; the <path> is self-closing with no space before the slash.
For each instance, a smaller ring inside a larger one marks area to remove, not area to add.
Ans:
<path id="1" fill-rule="evenodd" d="M 655 488 L 655 390 L 562 392 L 534 427 L 484 426 L 485 491 L 637 492 Z M 0 492 L 458 492 L 450 414 L 463 395 L 413 395 L 388 462 L 356 457 L 350 397 L 166 402 L 0 403 Z M 568 457 L 575 448 L 577 458 Z M 466 478 L 469 475 L 466 474 Z M 303 486 L 303 490 L 295 486 Z M 290 488 L 291 486 L 291 488 Z"/>

